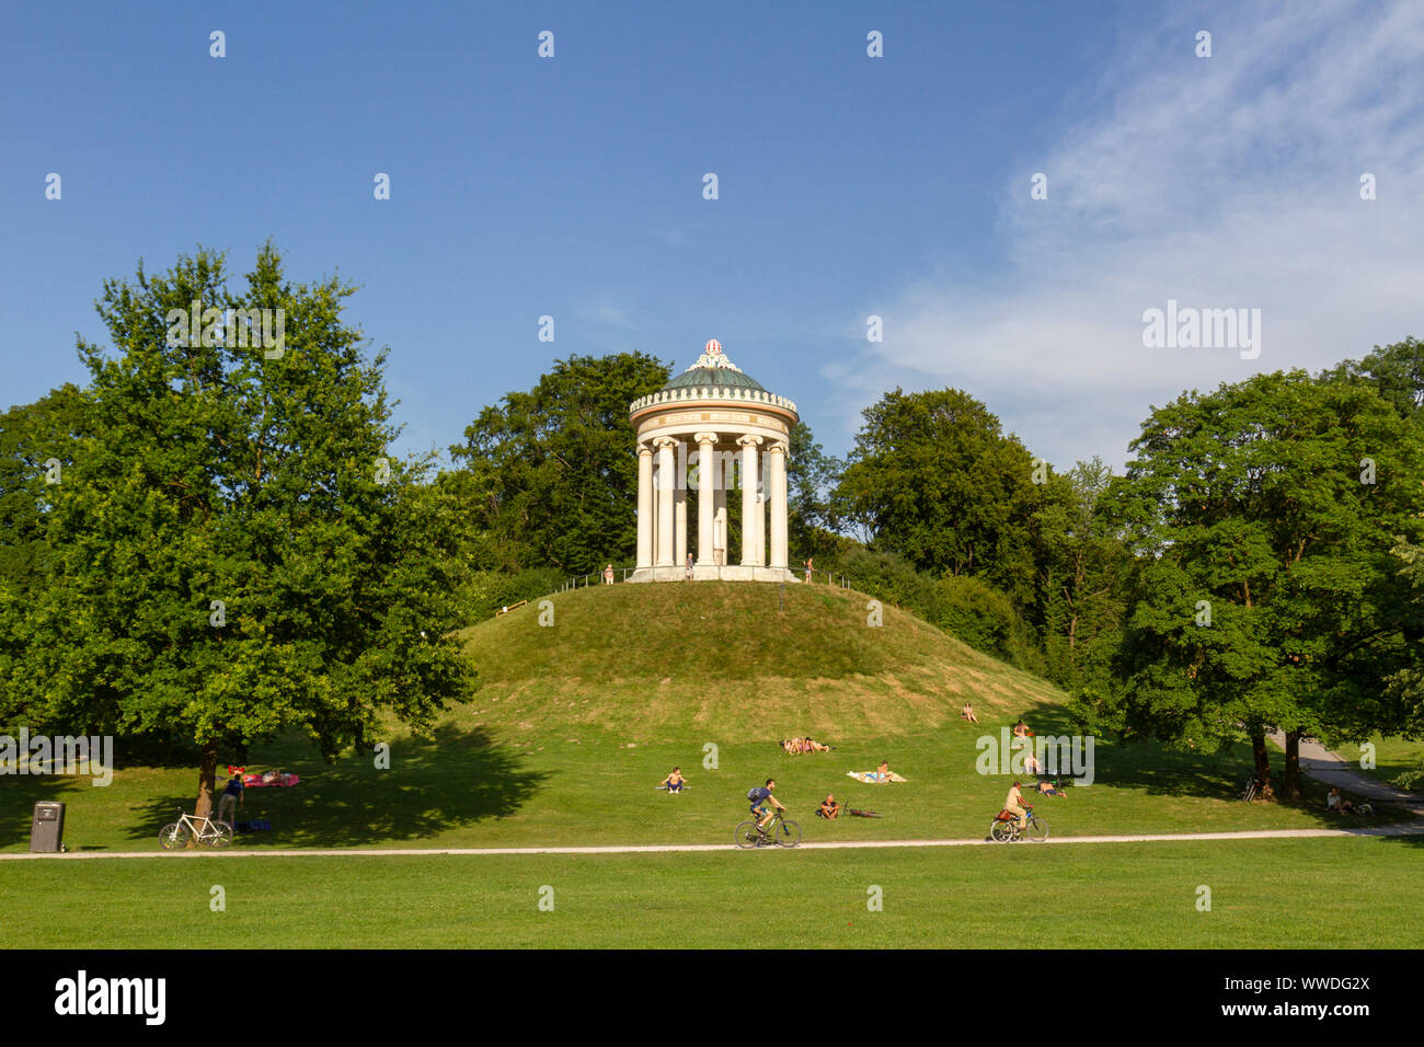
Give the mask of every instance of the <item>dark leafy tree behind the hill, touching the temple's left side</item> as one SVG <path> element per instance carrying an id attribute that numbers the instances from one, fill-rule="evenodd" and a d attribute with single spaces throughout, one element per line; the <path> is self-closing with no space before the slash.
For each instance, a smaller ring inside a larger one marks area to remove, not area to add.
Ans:
<path id="1" fill-rule="evenodd" d="M 480 412 L 450 453 L 498 567 L 585 573 L 628 560 L 638 538 L 628 405 L 668 375 L 641 352 L 571 356 Z"/>

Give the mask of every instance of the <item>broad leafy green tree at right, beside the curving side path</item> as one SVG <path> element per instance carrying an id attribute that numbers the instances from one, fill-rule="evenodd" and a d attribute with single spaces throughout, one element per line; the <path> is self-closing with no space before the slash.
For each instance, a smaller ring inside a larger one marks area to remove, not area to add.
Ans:
<path id="1" fill-rule="evenodd" d="M 1099 724 L 1212 748 L 1398 722 L 1381 672 L 1408 657 L 1396 536 L 1417 533 L 1424 443 L 1366 383 L 1260 375 L 1152 413 L 1112 491 L 1142 568 L 1122 685 L 1082 704 Z M 1208 624 L 1209 623 L 1209 624 Z M 1106 715 L 1104 715 L 1106 714 Z"/>

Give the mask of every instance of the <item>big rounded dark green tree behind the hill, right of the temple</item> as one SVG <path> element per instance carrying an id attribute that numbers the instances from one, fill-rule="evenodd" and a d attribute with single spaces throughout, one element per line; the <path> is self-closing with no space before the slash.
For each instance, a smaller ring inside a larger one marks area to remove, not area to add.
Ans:
<path id="1" fill-rule="evenodd" d="M 968 393 L 886 393 L 863 412 L 833 506 L 874 548 L 917 570 L 983 575 L 1032 601 L 1034 459 Z"/>

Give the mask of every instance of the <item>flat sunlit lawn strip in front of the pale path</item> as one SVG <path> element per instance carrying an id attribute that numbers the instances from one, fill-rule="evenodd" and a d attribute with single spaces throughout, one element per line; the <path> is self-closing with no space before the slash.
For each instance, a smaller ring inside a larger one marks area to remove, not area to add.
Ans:
<path id="1" fill-rule="evenodd" d="M 1398 838 L 61 860 L 6 863 L 0 912 L 63 899 L 13 947 L 1417 949 L 1421 875 Z"/>

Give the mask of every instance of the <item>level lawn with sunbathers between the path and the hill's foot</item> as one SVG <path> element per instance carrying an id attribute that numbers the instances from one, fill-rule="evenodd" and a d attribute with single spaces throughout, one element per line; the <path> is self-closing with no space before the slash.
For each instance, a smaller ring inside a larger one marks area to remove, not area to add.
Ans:
<path id="1" fill-rule="evenodd" d="M 842 742 L 834 752 L 802 756 L 782 754 L 775 742 L 729 744 L 718 748 L 712 771 L 702 766 L 699 741 L 625 748 L 618 736 L 591 729 L 535 729 L 518 732 L 518 741 L 497 741 L 461 722 L 471 715 L 457 712 L 433 741 L 397 738 L 389 771 L 353 756 L 328 766 L 296 742 L 262 751 L 263 765 L 295 769 L 302 783 L 249 789 L 239 818 L 268 819 L 273 830 L 239 835 L 238 846 L 718 843 L 731 840 L 746 812 L 746 789 L 768 776 L 778 779 L 776 795 L 807 840 L 973 838 L 984 835 L 1011 781 L 975 772 L 975 739 L 997 735 L 998 725 L 956 724 L 850 744 L 829 736 Z M 1045 707 L 1035 722 L 1052 729 L 1058 715 Z M 909 782 L 876 786 L 846 776 L 873 769 L 881 758 Z M 692 782 L 681 796 L 654 789 L 674 764 Z M 1307 803 L 1299 808 L 1236 801 L 1249 766 L 1245 748 L 1203 758 L 1102 742 L 1095 766 L 1092 786 L 1038 802 L 1055 836 L 1339 823 L 1326 813 L 1324 789 L 1314 782 L 1307 782 Z M 87 779 L 7 778 L 0 783 L 0 849 L 26 850 L 33 802 L 60 799 L 68 805 L 71 849 L 157 850 L 158 829 L 179 808 L 192 809 L 194 778 L 191 768 L 154 766 L 121 768 L 108 788 Z M 827 792 L 881 818 L 822 822 L 813 811 Z"/>

